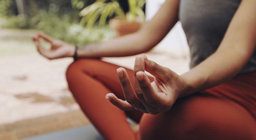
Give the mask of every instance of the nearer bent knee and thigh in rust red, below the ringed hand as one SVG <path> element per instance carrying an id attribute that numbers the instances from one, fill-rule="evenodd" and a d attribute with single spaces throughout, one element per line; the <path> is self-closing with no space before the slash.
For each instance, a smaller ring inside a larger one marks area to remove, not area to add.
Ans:
<path id="1" fill-rule="evenodd" d="M 144 114 L 140 120 L 142 140 L 154 139 L 255 139 L 255 120 L 224 101 L 190 99 L 170 111 Z"/>

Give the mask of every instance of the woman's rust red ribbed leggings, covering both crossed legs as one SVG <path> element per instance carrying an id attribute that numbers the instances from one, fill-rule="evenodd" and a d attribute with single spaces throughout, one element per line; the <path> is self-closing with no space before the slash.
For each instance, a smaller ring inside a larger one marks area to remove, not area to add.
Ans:
<path id="1" fill-rule="evenodd" d="M 74 98 L 105 139 L 256 140 L 256 73 L 247 76 L 254 76 L 249 84 L 242 85 L 239 79 L 231 80 L 178 99 L 168 112 L 151 115 L 121 111 L 105 99 L 107 93 L 114 93 L 124 100 L 116 73 L 119 67 L 97 59 L 79 59 L 66 71 Z M 133 70 L 126 70 L 133 81 Z M 130 129 L 127 117 L 140 123 L 138 135 Z"/>

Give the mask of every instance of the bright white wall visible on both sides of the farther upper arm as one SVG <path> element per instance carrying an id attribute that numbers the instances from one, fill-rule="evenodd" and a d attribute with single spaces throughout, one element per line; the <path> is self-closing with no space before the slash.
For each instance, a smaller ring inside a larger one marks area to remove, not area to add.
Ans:
<path id="1" fill-rule="evenodd" d="M 164 2 L 165 0 L 146 0 L 146 21 L 149 21 L 156 14 Z M 182 56 L 188 54 L 186 36 L 180 22 L 172 28 L 156 49 Z"/>

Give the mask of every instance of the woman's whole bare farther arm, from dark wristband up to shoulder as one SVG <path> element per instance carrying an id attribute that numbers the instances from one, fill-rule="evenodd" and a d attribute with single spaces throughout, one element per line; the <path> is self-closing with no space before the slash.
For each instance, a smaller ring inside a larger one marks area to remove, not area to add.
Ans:
<path id="1" fill-rule="evenodd" d="M 78 57 L 116 57 L 146 52 L 158 44 L 178 21 L 179 0 L 167 0 L 140 31 L 111 41 L 81 46 Z"/>

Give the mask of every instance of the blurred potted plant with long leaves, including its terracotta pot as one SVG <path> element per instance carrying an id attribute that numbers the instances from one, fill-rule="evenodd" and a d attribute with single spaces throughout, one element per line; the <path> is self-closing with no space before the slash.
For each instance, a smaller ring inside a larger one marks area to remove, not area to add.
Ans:
<path id="1" fill-rule="evenodd" d="M 98 20 L 98 25 L 103 26 L 108 17 L 113 17 L 109 24 L 117 36 L 136 32 L 144 23 L 145 0 L 128 0 L 128 5 L 129 11 L 125 13 L 117 0 L 97 0 L 81 10 L 80 25 L 92 27 Z"/>

